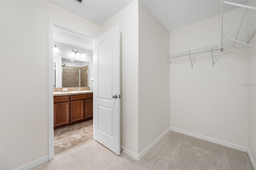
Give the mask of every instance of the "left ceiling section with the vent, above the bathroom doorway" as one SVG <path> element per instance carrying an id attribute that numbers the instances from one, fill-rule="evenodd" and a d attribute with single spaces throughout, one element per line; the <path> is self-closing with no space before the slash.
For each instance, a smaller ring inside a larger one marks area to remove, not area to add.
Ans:
<path id="1" fill-rule="evenodd" d="M 49 1 L 100 25 L 133 0 L 83 0 L 81 4 L 75 0 Z"/>

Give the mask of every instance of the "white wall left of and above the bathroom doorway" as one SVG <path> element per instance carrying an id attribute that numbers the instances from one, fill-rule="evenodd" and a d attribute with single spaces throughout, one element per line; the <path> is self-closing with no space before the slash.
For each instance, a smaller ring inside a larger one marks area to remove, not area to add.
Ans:
<path id="1" fill-rule="evenodd" d="M 48 156 L 48 18 L 100 28 L 48 1 L 1 1 L 1 169 Z M 18 54 L 18 55 L 17 55 Z"/>

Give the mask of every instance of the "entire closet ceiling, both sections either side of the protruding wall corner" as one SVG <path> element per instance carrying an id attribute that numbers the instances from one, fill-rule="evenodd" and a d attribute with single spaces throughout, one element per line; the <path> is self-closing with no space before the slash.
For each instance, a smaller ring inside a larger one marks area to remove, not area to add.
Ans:
<path id="1" fill-rule="evenodd" d="M 132 0 L 49 0 L 96 24 L 102 24 Z M 141 0 L 169 30 L 173 31 L 221 13 L 221 0 Z"/>

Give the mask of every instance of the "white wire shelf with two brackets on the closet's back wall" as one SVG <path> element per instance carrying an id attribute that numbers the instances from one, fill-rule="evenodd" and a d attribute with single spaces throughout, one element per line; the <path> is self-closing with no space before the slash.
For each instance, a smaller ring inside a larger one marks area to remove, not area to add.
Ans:
<path id="1" fill-rule="evenodd" d="M 214 67 L 213 51 L 217 51 L 217 50 L 220 50 L 220 45 L 213 45 L 213 46 L 208 46 L 208 47 L 204 47 L 204 48 L 193 49 L 193 50 L 190 50 L 190 51 L 182 51 L 182 52 L 179 52 L 179 53 L 172 53 L 172 54 L 164 55 L 164 57 L 170 57 L 170 61 L 171 61 L 172 59 L 175 59 L 177 57 L 189 56 L 190 57 L 190 63 L 191 63 L 191 69 L 192 69 L 193 64 L 192 64 L 191 55 L 196 55 L 196 54 L 206 53 L 206 52 L 212 52 L 212 67 Z"/>

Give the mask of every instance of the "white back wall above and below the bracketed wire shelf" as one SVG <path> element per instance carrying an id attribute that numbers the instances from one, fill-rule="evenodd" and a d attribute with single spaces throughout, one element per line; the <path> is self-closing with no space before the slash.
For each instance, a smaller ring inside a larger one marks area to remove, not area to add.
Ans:
<path id="1" fill-rule="evenodd" d="M 170 33 L 170 52 L 220 44 L 220 16 Z M 171 127 L 247 146 L 247 48 L 170 63 Z"/>

